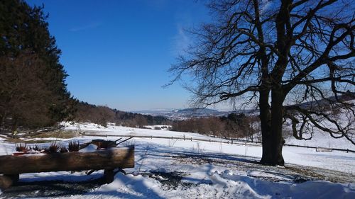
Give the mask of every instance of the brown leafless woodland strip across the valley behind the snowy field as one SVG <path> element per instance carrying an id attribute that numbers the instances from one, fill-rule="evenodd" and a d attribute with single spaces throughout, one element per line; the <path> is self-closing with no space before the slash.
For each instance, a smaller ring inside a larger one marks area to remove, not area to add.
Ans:
<path id="1" fill-rule="evenodd" d="M 107 127 L 108 123 L 126 127 L 144 128 L 146 125 L 171 125 L 170 130 L 178 132 L 197 132 L 226 138 L 246 138 L 260 141 L 261 135 L 258 116 L 244 113 L 230 113 L 222 117 L 190 118 L 187 120 L 169 120 L 163 116 L 142 115 L 96 106 L 83 101 L 77 101 L 73 120 L 75 122 L 96 123 Z"/>

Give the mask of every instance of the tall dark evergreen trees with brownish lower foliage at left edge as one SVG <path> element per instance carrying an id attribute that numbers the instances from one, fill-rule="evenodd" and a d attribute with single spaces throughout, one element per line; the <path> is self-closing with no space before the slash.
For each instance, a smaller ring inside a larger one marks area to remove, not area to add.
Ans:
<path id="1" fill-rule="evenodd" d="M 0 117 L 4 127 L 53 125 L 70 113 L 67 74 L 43 6 L 0 1 Z M 9 125 L 9 124 L 8 124 Z"/>

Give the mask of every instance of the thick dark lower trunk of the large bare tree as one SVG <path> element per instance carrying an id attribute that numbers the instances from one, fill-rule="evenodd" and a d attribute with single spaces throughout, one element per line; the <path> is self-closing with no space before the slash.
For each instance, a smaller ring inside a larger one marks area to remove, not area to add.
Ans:
<path id="1" fill-rule="evenodd" d="M 264 116 L 264 118 L 261 117 L 261 132 L 263 136 L 261 164 L 280 166 L 285 164 L 282 154 L 285 142 L 282 135 L 283 99 L 283 91 L 281 89 L 273 89 L 271 91 L 271 115 Z M 265 111 L 261 110 L 261 113 Z M 267 125 L 263 125 L 263 123 L 266 123 L 263 120 L 268 120 Z"/>

